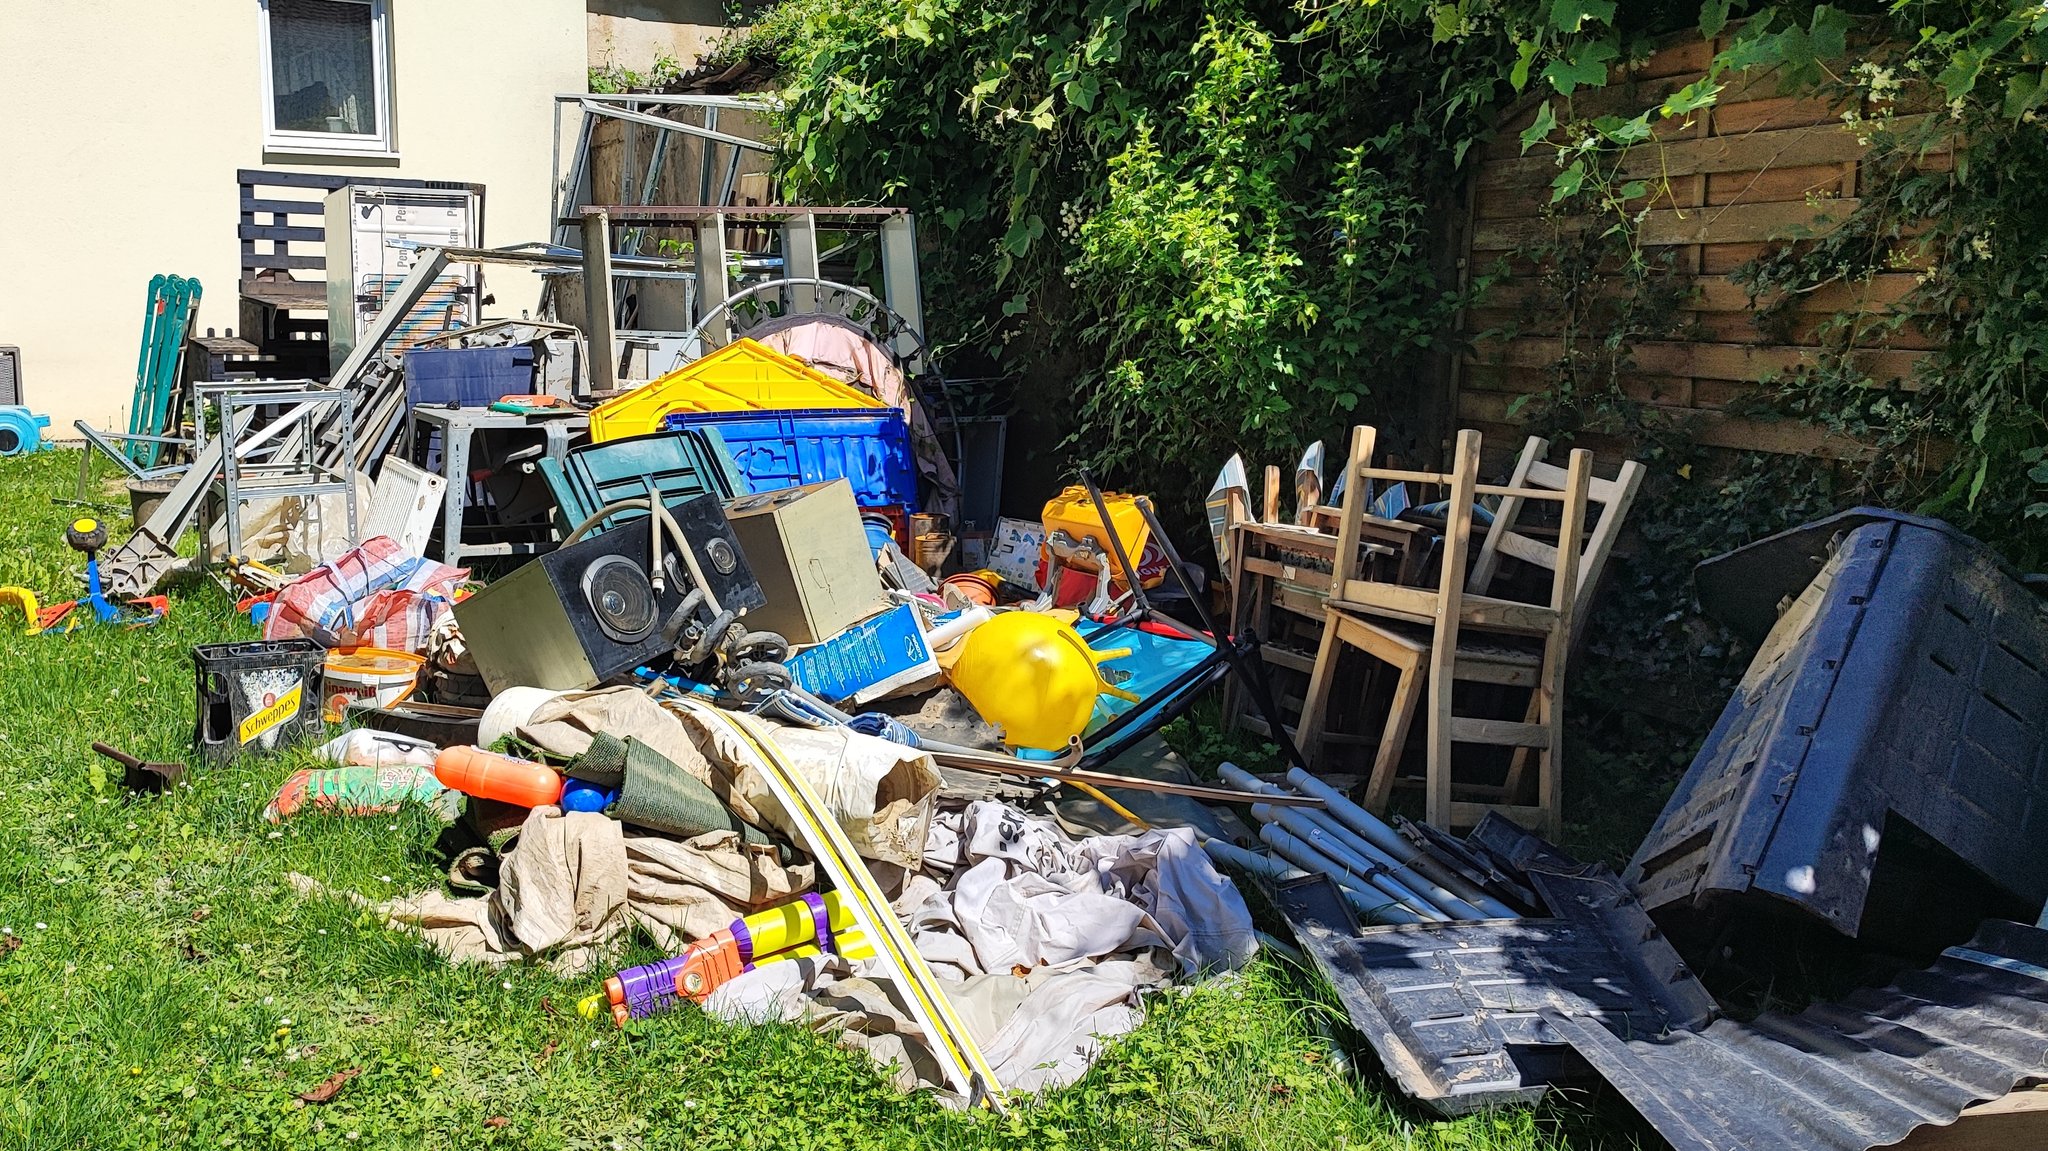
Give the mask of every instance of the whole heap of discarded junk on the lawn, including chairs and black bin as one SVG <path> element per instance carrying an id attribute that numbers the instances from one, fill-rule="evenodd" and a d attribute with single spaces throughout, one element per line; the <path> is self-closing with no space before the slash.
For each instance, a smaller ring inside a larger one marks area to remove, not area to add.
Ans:
<path id="1" fill-rule="evenodd" d="M 2048 610 L 1952 528 L 1855 510 L 1702 565 L 1759 651 L 1614 875 L 1540 834 L 1640 463 L 1528 440 L 1485 483 L 1479 432 L 1430 473 L 1358 428 L 1327 487 L 1303 457 L 1282 520 L 1280 469 L 1253 512 L 1233 461 L 1219 625 L 1143 496 L 1081 473 L 997 516 L 999 459 L 934 418 L 922 336 L 858 289 L 754 285 L 858 307 L 707 322 L 684 344 L 713 350 L 592 389 L 608 326 L 391 350 L 446 258 L 326 387 L 217 381 L 176 430 L 82 428 L 160 502 L 121 545 L 72 524 L 82 598 L 0 590 L 70 629 L 162 619 L 174 571 L 229 586 L 262 639 L 193 651 L 197 754 L 317 743 L 270 819 L 459 825 L 446 889 L 377 905 L 446 954 L 590 979 L 621 1026 L 684 999 L 801 1022 L 1001 1106 L 1081 1075 L 1147 991 L 1247 963 L 1255 883 L 1448 1114 L 1604 1077 L 1677 1147 L 1868 1147 L 2048 1077 L 2048 932 L 2009 922 L 2048 899 Z M 1202 782 L 1163 752 L 1219 684 L 1290 770 Z M 137 791 L 182 770 L 102 754 Z M 1403 786 L 1425 821 L 1391 815 Z M 612 969 L 631 940 L 668 958 Z M 1815 940 L 1894 983 L 1749 1022 L 1710 991 Z"/>

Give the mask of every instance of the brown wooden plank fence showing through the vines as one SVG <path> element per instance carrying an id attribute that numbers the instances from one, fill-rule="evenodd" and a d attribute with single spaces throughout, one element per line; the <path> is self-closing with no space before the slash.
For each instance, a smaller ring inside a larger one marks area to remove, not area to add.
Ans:
<path id="1" fill-rule="evenodd" d="M 1608 88 L 1575 96 L 1575 113 L 1634 115 L 1700 78 L 1726 41 L 1690 37 L 1651 55 Z M 1548 94 L 1548 92 L 1546 92 Z M 1507 264 L 1462 317 L 1470 348 L 1452 369 L 1450 406 L 1460 426 L 1487 432 L 1489 446 L 1520 444 L 1518 399 L 1552 387 L 1565 356 L 1563 309 L 1546 299 L 1538 262 L 1563 229 L 1583 219 L 1548 215 L 1554 152 L 1522 156 L 1520 133 L 1534 121 L 1540 98 L 1511 109 L 1499 137 L 1481 156 L 1470 180 L 1464 260 L 1468 274 Z M 1882 317 L 1915 285 L 1907 266 L 1866 285 L 1835 285 L 1788 301 L 1790 315 L 1757 322 L 1751 299 L 1729 272 L 1784 240 L 1821 236 L 1860 203 L 1868 145 L 1843 121 L 1843 109 L 1821 98 L 1780 96 L 1772 78 L 1733 82 L 1720 102 L 1690 125 L 1667 125 L 1657 141 L 1624 160 L 1626 178 L 1667 180 L 1669 190 L 1640 221 L 1647 254 L 1675 258 L 1681 276 L 1679 313 L 1669 338 L 1636 342 L 1620 373 L 1630 399 L 1671 416 L 1706 446 L 1853 459 L 1866 449 L 1825 428 L 1743 414 L 1759 381 L 1815 363 L 1817 328 L 1837 311 Z M 1939 166 L 1946 156 L 1931 156 Z M 1602 291 L 1604 285 L 1587 285 Z M 1608 291 L 1620 291 L 1608 274 Z M 1757 301 L 1757 303 L 1769 303 Z M 1493 336 L 1487 336 L 1487 334 Z M 1860 340 L 1862 346 L 1862 340 Z M 1915 365 L 1933 344 L 1911 322 L 1886 338 L 1872 336 L 1858 367 L 1878 381 L 1911 387 Z"/>

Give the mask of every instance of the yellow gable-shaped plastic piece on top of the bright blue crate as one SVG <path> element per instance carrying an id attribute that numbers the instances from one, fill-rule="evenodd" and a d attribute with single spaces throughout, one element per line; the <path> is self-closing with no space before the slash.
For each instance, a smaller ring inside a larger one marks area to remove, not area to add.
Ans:
<path id="1" fill-rule="evenodd" d="M 590 438 L 602 442 L 659 432 L 662 418 L 670 412 L 750 408 L 883 408 L 883 401 L 797 356 L 741 338 L 662 379 L 598 403 L 590 410 Z"/>

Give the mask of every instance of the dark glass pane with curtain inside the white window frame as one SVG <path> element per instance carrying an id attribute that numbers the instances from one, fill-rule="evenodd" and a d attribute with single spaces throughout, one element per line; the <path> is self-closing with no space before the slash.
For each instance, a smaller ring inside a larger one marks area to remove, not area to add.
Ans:
<path id="1" fill-rule="evenodd" d="M 270 0 L 270 92 L 279 131 L 377 135 L 371 6 Z"/>

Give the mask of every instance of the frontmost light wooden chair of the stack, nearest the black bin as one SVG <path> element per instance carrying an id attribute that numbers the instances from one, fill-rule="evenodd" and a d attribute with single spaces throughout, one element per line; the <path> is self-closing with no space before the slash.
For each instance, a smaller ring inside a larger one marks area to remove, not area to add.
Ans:
<path id="1" fill-rule="evenodd" d="M 1372 764 L 1366 803 L 1384 809 L 1399 768 L 1401 748 L 1407 743 L 1407 729 L 1421 698 L 1430 702 L 1430 750 L 1427 750 L 1427 819 L 1440 827 L 1470 825 L 1487 809 L 1534 823 L 1546 834 L 1559 829 L 1563 762 L 1563 686 L 1565 664 L 1573 635 L 1573 614 L 1579 592 L 1579 547 L 1552 547 L 1552 586 L 1546 604 L 1524 604 L 1466 590 L 1470 571 L 1473 522 L 1468 508 L 1479 496 L 1497 496 L 1503 508 L 1520 514 L 1528 500 L 1554 500 L 1563 506 L 1561 541 L 1577 541 L 1585 535 L 1587 487 L 1591 481 L 1591 453 L 1573 451 L 1571 463 L 1563 469 L 1561 487 L 1530 485 L 1483 485 L 1479 483 L 1479 432 L 1458 432 L 1452 469 L 1448 473 L 1395 471 L 1372 467 L 1376 432 L 1360 426 L 1352 434 L 1352 469 L 1346 481 L 1343 516 L 1337 539 L 1337 555 L 1356 555 L 1356 541 L 1364 516 L 1364 481 L 1407 481 L 1434 485 L 1448 492 L 1448 524 L 1444 528 L 1442 571 L 1436 590 L 1409 588 L 1360 580 L 1356 565 L 1341 565 L 1333 573 L 1329 602 L 1325 604 L 1327 625 L 1317 651 L 1309 696 L 1303 705 L 1303 743 L 1315 758 L 1321 752 L 1323 719 L 1329 707 L 1329 686 L 1341 647 L 1358 647 L 1395 666 L 1395 698 L 1382 727 L 1378 754 Z M 1536 473 L 1534 463 L 1518 475 Z M 1503 532 L 1501 539 L 1518 532 Z M 1493 532 L 1489 530 L 1489 539 Z M 1518 537 L 1520 539 L 1520 537 Z M 1532 557 L 1538 549 L 1505 545 L 1493 541 L 1495 551 L 1516 547 Z M 1534 543 L 1534 541 L 1532 541 Z M 1507 551 L 1516 555 L 1513 551 Z M 1540 559 L 1532 559 L 1538 563 Z M 1419 627 L 1417 627 L 1419 625 Z M 1503 657 L 1516 651 L 1505 637 L 1530 637 L 1536 641 L 1528 655 Z M 1427 668 L 1427 678 L 1423 670 Z M 1522 723 L 1503 719 L 1460 717 L 1452 713 L 1452 686 L 1458 680 L 1507 682 L 1528 686 L 1534 700 L 1534 719 Z M 1452 799 L 1452 745 L 1483 743 L 1530 748 L 1538 762 L 1536 805 L 1485 805 L 1454 803 Z"/>

